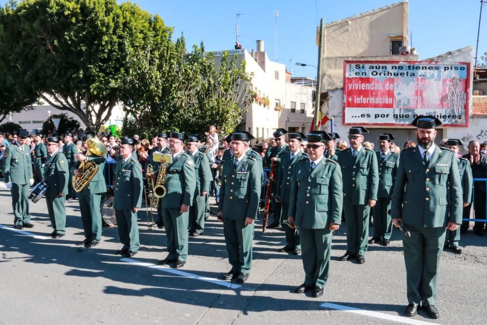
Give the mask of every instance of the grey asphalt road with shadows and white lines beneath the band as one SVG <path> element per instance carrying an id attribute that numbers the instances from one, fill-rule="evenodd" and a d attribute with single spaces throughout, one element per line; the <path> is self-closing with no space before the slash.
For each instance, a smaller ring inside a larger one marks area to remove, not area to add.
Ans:
<path id="1" fill-rule="evenodd" d="M 182 269 L 155 266 L 167 251 L 164 229 L 148 229 L 139 212 L 141 248 L 131 260 L 114 255 L 116 227 L 103 229 L 93 249 L 84 239 L 77 201 L 67 204 L 67 234 L 54 240 L 45 200 L 31 204 L 33 229 L 12 229 L 10 192 L 0 190 L 0 324 L 483 324 L 487 316 L 487 236 L 471 230 L 464 253 L 442 256 L 437 307 L 431 320 L 420 310 L 403 317 L 406 275 L 399 231 L 391 245 L 369 246 L 366 263 L 340 262 L 345 226 L 333 239 L 324 295 L 295 294 L 304 279 L 300 256 L 280 253 L 284 233 L 254 239 L 254 263 L 241 287 L 221 281 L 230 269 L 222 224 L 210 217 L 202 236 L 189 239 Z M 372 233 L 372 229 L 371 229 Z"/>

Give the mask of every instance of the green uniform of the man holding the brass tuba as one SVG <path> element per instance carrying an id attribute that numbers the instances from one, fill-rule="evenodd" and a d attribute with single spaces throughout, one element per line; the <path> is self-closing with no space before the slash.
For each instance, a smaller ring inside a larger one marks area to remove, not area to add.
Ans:
<path id="1" fill-rule="evenodd" d="M 99 242 L 101 239 L 101 194 L 107 191 L 107 184 L 103 172 L 106 157 L 91 155 L 87 156 L 86 159 L 98 165 L 98 171 L 90 183 L 88 183 L 83 191 L 78 193 L 81 221 L 83 222 L 83 229 L 85 231 L 85 242 L 88 243 L 90 241 Z M 80 163 L 80 161 L 75 163 L 71 168 L 71 174 L 79 167 Z"/>

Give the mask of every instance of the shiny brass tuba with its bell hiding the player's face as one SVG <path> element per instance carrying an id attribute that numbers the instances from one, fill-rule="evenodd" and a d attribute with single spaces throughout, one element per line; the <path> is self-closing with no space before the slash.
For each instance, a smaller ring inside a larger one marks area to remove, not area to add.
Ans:
<path id="1" fill-rule="evenodd" d="M 108 153 L 105 145 L 95 138 L 86 140 L 85 145 L 88 149 L 85 154 L 87 156 L 94 154 L 103 157 Z M 83 191 L 88 186 L 96 172 L 98 172 L 98 164 L 93 161 L 83 160 L 79 164 L 78 170 L 79 174 L 74 175 L 72 179 L 73 190 L 76 193 Z"/>

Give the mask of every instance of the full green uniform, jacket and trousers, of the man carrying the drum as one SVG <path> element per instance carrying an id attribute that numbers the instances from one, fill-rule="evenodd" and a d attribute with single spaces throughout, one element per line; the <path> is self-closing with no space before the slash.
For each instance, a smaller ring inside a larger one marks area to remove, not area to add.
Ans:
<path id="1" fill-rule="evenodd" d="M 47 189 L 46 203 L 51 226 L 55 233 L 66 233 L 66 194 L 69 180 L 68 161 L 59 150 L 47 158 L 44 165 L 44 182 Z M 62 193 L 62 196 L 58 196 Z"/>

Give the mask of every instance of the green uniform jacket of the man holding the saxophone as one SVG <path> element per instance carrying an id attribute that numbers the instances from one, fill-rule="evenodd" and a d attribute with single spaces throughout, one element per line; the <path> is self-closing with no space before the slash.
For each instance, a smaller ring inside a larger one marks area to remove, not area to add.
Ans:
<path id="1" fill-rule="evenodd" d="M 179 209 L 182 204 L 192 205 L 196 174 L 194 161 L 187 153 L 179 153 L 172 163 L 166 166 L 165 181 L 166 195 L 161 198 L 161 208 Z"/>

